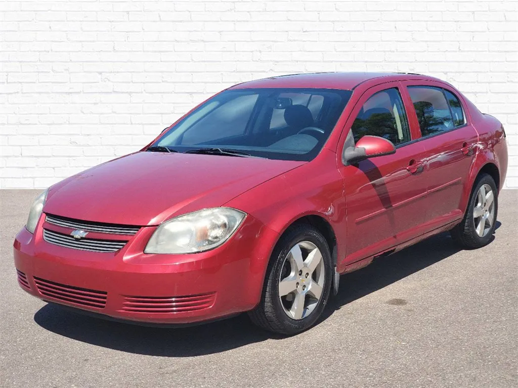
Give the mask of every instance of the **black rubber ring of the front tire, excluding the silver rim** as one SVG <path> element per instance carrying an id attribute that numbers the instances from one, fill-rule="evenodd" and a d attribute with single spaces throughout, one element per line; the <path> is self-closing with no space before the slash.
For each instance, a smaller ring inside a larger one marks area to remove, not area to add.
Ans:
<path id="1" fill-rule="evenodd" d="M 322 253 L 324 260 L 324 285 L 322 297 L 316 305 L 315 309 L 311 314 L 303 319 L 295 320 L 286 315 L 281 305 L 279 298 L 279 278 L 282 271 L 282 267 L 286 260 L 286 256 L 290 249 L 297 243 L 302 241 L 309 241 L 316 245 Z M 304 330 L 309 329 L 322 315 L 327 300 L 329 299 L 329 293 L 331 289 L 331 282 L 333 276 L 333 263 L 331 259 L 331 253 L 325 238 L 322 234 L 310 225 L 304 225 L 298 227 L 295 233 L 286 235 L 283 241 L 280 241 L 274 253 L 272 254 L 273 265 L 271 267 L 268 281 L 270 282 L 271 293 L 269 294 L 270 303 L 274 307 L 275 315 L 277 316 L 279 323 L 283 326 L 286 334 L 296 334 Z"/>

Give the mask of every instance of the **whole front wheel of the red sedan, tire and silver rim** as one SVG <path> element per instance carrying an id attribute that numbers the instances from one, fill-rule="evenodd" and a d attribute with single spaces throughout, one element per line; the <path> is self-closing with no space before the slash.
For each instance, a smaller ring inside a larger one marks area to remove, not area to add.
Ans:
<path id="1" fill-rule="evenodd" d="M 329 299 L 332 268 L 329 246 L 316 228 L 300 223 L 287 229 L 272 252 L 261 302 L 249 312 L 252 322 L 284 335 L 309 329 L 322 315 Z M 281 280 L 285 280 L 282 285 Z"/>

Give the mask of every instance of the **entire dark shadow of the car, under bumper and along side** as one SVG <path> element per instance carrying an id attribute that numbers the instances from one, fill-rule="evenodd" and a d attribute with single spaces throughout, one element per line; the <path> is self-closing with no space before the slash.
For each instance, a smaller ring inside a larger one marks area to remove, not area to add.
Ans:
<path id="1" fill-rule="evenodd" d="M 459 250 L 450 235 L 442 233 L 341 276 L 338 295 L 330 299 L 320 321 L 342 306 L 448 258 Z M 252 326 L 246 314 L 205 325 L 166 329 L 83 316 L 59 305 L 48 304 L 36 312 L 34 321 L 53 333 L 88 344 L 169 357 L 219 353 L 254 342 L 283 338 Z"/>

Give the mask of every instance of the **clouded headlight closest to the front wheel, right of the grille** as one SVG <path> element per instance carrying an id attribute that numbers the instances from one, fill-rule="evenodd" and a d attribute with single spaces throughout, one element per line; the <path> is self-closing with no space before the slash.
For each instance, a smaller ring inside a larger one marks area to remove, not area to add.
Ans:
<path id="1" fill-rule="evenodd" d="M 149 239 L 145 253 L 193 253 L 220 246 L 241 225 L 246 213 L 216 207 L 162 223 Z"/>

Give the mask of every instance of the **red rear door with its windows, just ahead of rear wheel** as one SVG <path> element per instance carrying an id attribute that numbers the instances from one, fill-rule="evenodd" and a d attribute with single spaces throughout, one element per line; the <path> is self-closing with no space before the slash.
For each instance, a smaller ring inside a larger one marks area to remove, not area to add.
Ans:
<path id="1" fill-rule="evenodd" d="M 405 82 L 425 148 L 428 200 L 425 229 L 462 218 L 463 190 L 474 160 L 477 131 L 455 92 L 439 83 Z"/>

